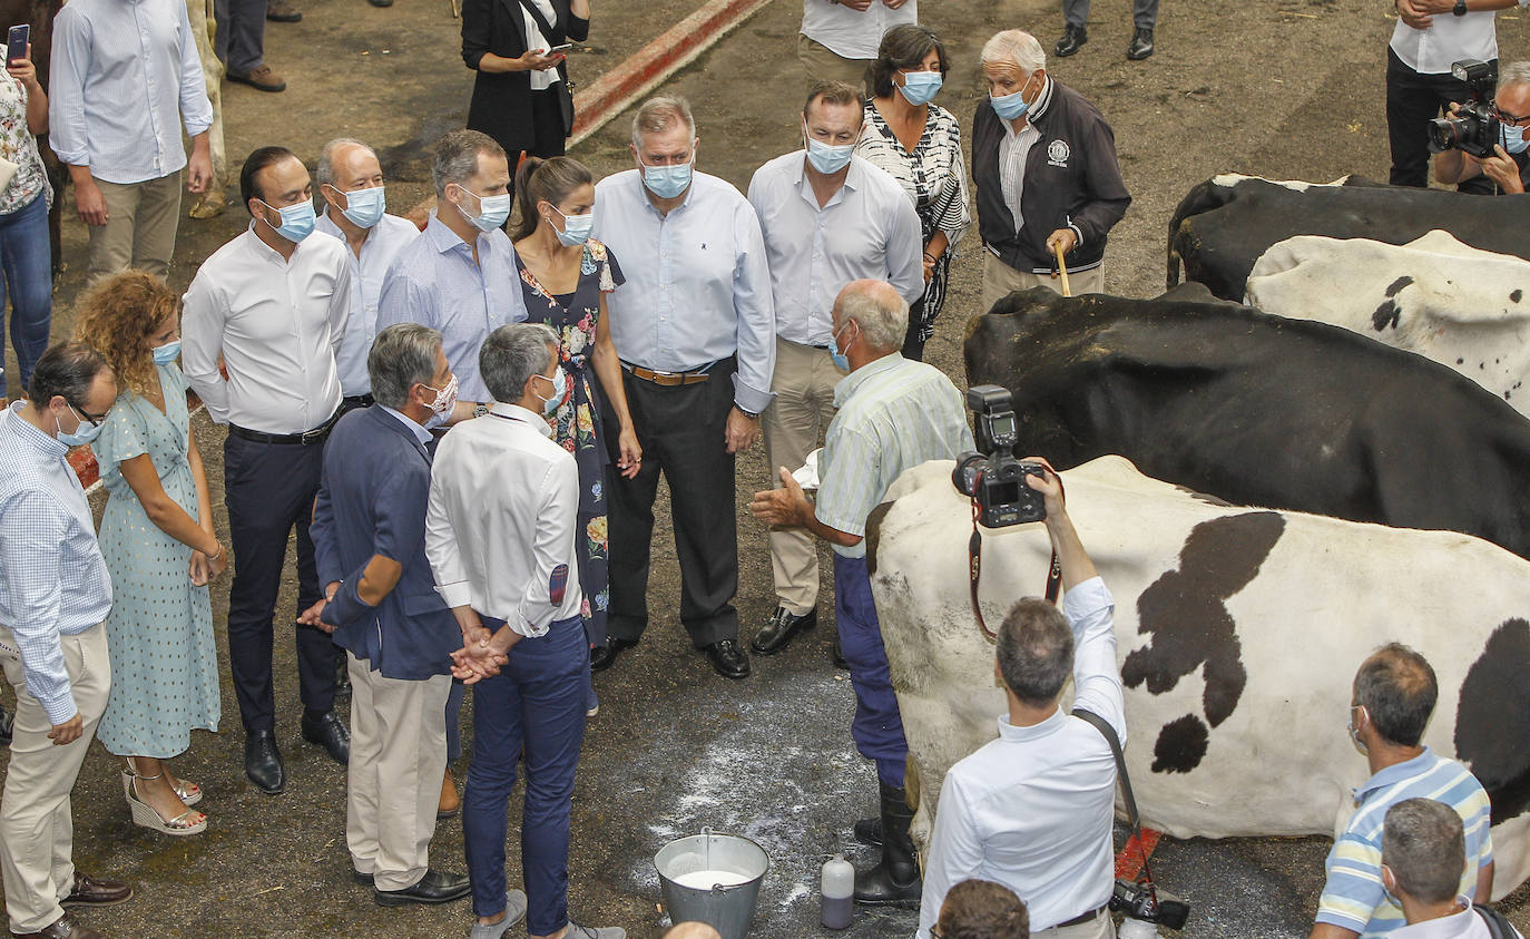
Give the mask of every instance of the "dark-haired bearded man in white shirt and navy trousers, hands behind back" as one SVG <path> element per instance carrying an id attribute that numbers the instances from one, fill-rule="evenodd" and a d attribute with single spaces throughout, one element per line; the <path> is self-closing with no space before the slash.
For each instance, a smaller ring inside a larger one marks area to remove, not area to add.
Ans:
<path id="1" fill-rule="evenodd" d="M 335 644 L 297 615 L 318 603 L 308 526 L 324 439 L 340 414 L 335 350 L 350 314 L 350 265 L 335 239 L 311 239 L 314 191 L 291 150 L 262 147 L 239 174 L 254 220 L 191 281 L 182 314 L 187 381 L 213 421 L 228 425 L 223 491 L 234 546 L 228 659 L 245 725 L 245 775 L 275 795 L 286 772 L 275 742 L 271 618 L 288 537 L 297 526 L 298 682 L 303 737 L 349 759 L 335 716 Z"/>

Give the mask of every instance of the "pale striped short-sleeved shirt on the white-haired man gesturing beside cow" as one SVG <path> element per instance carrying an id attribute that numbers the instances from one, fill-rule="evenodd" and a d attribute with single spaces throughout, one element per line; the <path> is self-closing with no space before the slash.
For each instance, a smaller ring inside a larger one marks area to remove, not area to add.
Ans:
<path id="1" fill-rule="evenodd" d="M 904 470 L 973 450 L 967 408 L 952 379 L 897 352 L 842 378 L 834 407 L 838 413 L 819 454 L 814 515 L 851 535 L 866 534 L 866 517 Z M 866 541 L 834 551 L 863 558 Z"/>

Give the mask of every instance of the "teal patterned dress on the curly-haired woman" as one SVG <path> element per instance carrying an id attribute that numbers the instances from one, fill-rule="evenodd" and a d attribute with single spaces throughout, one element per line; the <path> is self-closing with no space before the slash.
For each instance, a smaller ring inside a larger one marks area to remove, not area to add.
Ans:
<path id="1" fill-rule="evenodd" d="M 187 459 L 191 418 L 187 381 L 159 366 L 165 410 L 122 393 L 92 444 L 110 499 L 101 518 L 101 554 L 112 573 L 112 697 L 96 728 L 116 755 L 170 759 L 191 745 L 193 729 L 217 729 L 217 651 L 207 587 L 191 586 L 191 549 L 148 520 L 122 479 L 124 460 L 148 454 L 165 494 L 197 517 Z"/>

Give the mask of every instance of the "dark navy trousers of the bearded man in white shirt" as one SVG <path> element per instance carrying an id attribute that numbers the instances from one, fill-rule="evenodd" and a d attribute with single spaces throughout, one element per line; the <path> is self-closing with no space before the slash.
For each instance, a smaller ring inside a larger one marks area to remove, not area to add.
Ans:
<path id="1" fill-rule="evenodd" d="M 314 518 L 323 462 L 323 444 L 259 444 L 234 434 L 223 444 L 223 492 L 234 547 L 228 668 L 245 733 L 275 729 L 271 619 L 292 526 L 297 526 L 297 610 L 291 622 L 297 633 L 298 691 L 309 711 L 335 707 L 335 644 L 329 633 L 297 624 L 297 613 L 321 596 L 308 526 Z"/>

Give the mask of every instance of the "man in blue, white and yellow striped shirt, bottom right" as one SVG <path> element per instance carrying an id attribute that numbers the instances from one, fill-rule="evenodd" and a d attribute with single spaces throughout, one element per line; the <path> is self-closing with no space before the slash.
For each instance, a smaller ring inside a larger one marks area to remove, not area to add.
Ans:
<path id="1" fill-rule="evenodd" d="M 1386 811 L 1408 798 L 1441 801 L 1461 817 L 1466 872 L 1460 893 L 1487 902 L 1493 889 L 1490 804 L 1461 763 L 1420 746 L 1440 687 L 1421 655 L 1400 642 L 1379 648 L 1354 676 L 1349 736 L 1371 763 L 1354 791 L 1356 812 L 1328 852 L 1328 882 L 1308 939 L 1371 939 L 1406 924 L 1382 887 Z"/>

